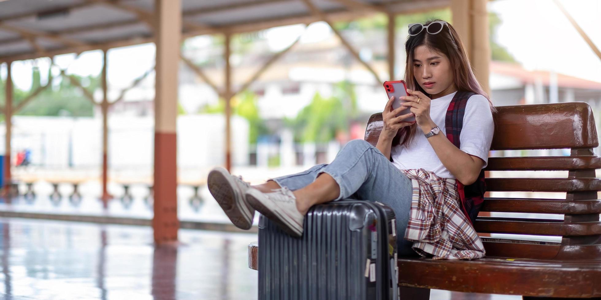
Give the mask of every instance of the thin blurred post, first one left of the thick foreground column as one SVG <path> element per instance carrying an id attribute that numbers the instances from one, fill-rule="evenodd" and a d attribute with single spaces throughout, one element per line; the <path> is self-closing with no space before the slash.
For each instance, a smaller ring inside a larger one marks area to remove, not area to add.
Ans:
<path id="1" fill-rule="evenodd" d="M 106 82 L 106 49 L 102 50 L 102 102 L 100 103 L 100 111 L 102 112 L 102 206 L 108 208 L 108 201 L 112 196 L 108 193 L 106 185 L 108 184 L 108 83 Z"/>

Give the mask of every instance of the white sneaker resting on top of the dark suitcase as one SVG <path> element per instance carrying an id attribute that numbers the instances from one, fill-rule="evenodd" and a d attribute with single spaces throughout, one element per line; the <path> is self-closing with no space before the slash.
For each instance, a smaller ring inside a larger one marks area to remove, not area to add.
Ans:
<path id="1" fill-rule="evenodd" d="M 269 220 L 278 223 L 289 235 L 302 236 L 305 216 L 296 208 L 296 197 L 287 187 L 263 193 L 254 188 L 246 190 L 246 200 Z"/>

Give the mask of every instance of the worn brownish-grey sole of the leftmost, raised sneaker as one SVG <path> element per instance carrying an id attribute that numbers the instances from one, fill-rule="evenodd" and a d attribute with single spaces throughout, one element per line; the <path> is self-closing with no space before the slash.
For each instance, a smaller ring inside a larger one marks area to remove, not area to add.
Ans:
<path id="1" fill-rule="evenodd" d="M 250 229 L 252 216 L 249 212 L 244 211 L 243 203 L 236 200 L 236 191 L 234 190 L 236 183 L 229 178 L 231 175 L 225 172 L 227 172 L 225 169 L 215 169 L 209 172 L 207 178 L 209 191 L 234 226 L 240 229 Z"/>

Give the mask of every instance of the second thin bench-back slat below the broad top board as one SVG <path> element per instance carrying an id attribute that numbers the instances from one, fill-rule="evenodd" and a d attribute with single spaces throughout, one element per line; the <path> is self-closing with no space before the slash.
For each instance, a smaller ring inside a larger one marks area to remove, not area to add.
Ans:
<path id="1" fill-rule="evenodd" d="M 600 178 L 486 178 L 487 191 L 601 191 Z"/>

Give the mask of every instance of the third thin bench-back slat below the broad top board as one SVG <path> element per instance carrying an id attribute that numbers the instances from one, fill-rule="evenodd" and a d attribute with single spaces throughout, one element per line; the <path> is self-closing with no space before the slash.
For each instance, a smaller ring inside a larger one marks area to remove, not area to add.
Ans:
<path id="1" fill-rule="evenodd" d="M 481 211 L 601 214 L 601 199 L 566 201 L 563 199 L 485 198 Z"/>

